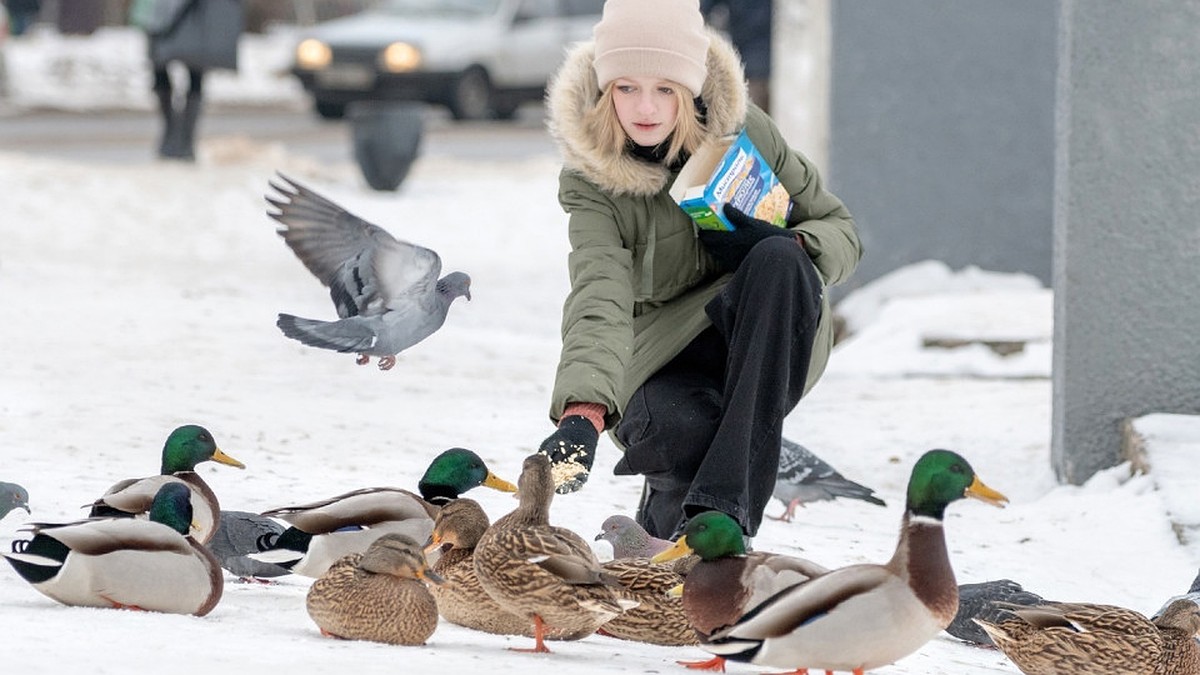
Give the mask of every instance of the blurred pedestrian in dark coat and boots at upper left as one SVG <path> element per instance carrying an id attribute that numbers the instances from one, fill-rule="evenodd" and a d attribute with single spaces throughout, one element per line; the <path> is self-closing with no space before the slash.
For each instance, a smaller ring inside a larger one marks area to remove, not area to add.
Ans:
<path id="1" fill-rule="evenodd" d="M 131 20 L 150 38 L 154 92 L 162 112 L 158 156 L 193 161 L 196 125 L 204 100 L 204 73 L 238 70 L 238 38 L 244 26 L 240 0 L 136 0 Z M 175 92 L 170 64 L 187 68 L 182 96 Z"/>

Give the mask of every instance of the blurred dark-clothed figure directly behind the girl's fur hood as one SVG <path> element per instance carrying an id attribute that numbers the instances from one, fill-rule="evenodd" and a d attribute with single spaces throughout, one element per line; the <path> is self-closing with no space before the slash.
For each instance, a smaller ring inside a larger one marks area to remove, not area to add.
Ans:
<path id="1" fill-rule="evenodd" d="M 701 0 L 701 12 L 724 30 L 742 56 L 750 100 L 770 112 L 770 40 L 774 0 Z"/>

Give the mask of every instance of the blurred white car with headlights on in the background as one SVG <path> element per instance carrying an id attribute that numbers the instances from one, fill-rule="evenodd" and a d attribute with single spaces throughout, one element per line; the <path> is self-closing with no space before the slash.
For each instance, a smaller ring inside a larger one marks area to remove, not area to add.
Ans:
<path id="1" fill-rule="evenodd" d="M 424 101 L 456 119 L 508 119 L 539 101 L 604 0 L 382 0 L 308 30 L 293 73 L 317 113 L 353 101 Z"/>

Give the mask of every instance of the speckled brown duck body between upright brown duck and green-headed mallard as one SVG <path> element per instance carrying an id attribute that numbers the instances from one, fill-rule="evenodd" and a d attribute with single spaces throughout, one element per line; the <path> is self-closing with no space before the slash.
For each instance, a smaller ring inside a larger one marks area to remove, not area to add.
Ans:
<path id="1" fill-rule="evenodd" d="M 606 562 L 605 572 L 617 578 L 637 607 L 600 627 L 613 638 L 652 645 L 696 645 L 696 631 L 683 610 L 683 601 L 667 591 L 683 583 L 671 563 L 653 563 L 646 557 Z"/>

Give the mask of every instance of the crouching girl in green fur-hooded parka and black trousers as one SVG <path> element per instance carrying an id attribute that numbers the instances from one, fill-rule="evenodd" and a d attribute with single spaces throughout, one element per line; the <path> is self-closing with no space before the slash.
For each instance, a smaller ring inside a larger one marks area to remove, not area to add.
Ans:
<path id="1" fill-rule="evenodd" d="M 564 155 L 571 291 L 540 450 L 558 490 L 587 480 L 599 432 L 616 472 L 646 477 L 637 521 L 673 538 L 716 509 L 757 532 L 782 422 L 833 348 L 826 288 L 862 246 L 816 167 L 748 102 L 733 47 L 697 0 L 608 0 L 547 94 Z M 745 129 L 787 189 L 786 228 L 738 211 L 733 232 L 697 231 L 668 193 L 703 143 Z"/>

